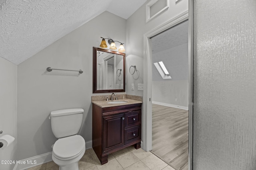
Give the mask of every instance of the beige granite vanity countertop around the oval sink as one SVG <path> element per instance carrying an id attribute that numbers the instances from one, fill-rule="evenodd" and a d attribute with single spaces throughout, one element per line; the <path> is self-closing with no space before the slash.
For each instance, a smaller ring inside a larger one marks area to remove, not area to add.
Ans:
<path id="1" fill-rule="evenodd" d="M 132 100 L 132 99 L 121 99 L 121 100 L 113 100 L 113 102 L 115 101 L 126 101 L 126 103 L 122 103 L 122 104 L 108 104 L 108 102 L 111 102 L 111 100 L 106 101 L 106 100 L 101 100 L 101 101 L 92 101 L 93 104 L 96 104 L 100 107 L 114 107 L 114 106 L 123 106 L 123 105 L 129 105 L 129 104 L 138 104 L 138 103 L 142 103 L 138 100 Z"/>

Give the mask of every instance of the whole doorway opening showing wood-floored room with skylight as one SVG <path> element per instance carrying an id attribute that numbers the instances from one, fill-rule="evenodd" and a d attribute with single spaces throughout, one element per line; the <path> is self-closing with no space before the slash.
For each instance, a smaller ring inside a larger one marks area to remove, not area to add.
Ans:
<path id="1" fill-rule="evenodd" d="M 150 38 L 152 152 L 188 170 L 188 20 Z"/>

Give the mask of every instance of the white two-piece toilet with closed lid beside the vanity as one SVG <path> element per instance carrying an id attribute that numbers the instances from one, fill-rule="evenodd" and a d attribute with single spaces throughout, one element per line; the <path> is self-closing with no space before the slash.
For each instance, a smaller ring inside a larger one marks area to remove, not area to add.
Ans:
<path id="1" fill-rule="evenodd" d="M 84 109 L 62 109 L 50 114 L 52 132 L 58 140 L 52 147 L 52 160 L 59 170 L 79 170 L 78 161 L 85 152 L 85 141 L 77 135 Z"/>

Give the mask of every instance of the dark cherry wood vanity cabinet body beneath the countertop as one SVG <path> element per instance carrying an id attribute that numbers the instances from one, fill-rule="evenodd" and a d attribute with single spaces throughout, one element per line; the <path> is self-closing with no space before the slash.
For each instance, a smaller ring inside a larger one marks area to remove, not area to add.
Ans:
<path id="1" fill-rule="evenodd" d="M 141 142 L 141 103 L 113 107 L 92 104 L 92 148 L 101 164 L 108 154 Z"/>

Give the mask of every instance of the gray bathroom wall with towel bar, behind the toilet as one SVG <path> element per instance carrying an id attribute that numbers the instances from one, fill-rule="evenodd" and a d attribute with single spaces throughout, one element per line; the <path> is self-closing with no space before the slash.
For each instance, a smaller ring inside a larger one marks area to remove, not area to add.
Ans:
<path id="1" fill-rule="evenodd" d="M 99 47 L 100 36 L 126 42 L 126 20 L 104 12 L 18 65 L 18 159 L 52 151 L 53 110 L 83 108 L 79 133 L 92 140 L 92 47 Z M 48 66 L 84 73 L 47 72 Z"/>

